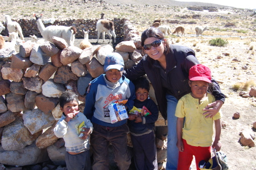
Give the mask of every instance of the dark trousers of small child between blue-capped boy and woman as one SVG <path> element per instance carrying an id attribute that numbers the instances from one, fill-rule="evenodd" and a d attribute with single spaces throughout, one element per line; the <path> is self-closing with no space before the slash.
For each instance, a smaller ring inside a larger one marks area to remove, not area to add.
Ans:
<path id="1" fill-rule="evenodd" d="M 142 136 L 131 135 L 134 163 L 137 170 L 157 170 L 154 131 Z"/>

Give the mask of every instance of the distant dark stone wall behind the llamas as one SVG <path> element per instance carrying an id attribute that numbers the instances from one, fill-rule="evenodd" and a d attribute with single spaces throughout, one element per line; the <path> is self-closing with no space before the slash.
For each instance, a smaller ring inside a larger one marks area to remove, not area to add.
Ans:
<path id="1" fill-rule="evenodd" d="M 117 38 L 123 38 L 123 22 L 125 19 L 120 18 L 114 18 L 112 21 L 114 22 L 115 27 L 115 34 L 117 35 Z M 20 24 L 20 27 L 22 28 L 22 32 L 24 37 L 29 37 L 30 35 L 36 35 L 37 37 L 42 37 L 40 34 L 40 31 L 38 29 L 38 25 L 36 24 L 35 19 L 16 19 L 13 20 Z M 98 32 L 96 31 L 96 23 L 98 19 L 68 19 L 68 20 L 55 20 L 53 24 L 47 23 L 44 24 L 44 26 L 51 26 L 51 25 L 58 25 L 58 26 L 75 26 L 77 28 L 77 34 L 75 35 L 75 38 L 83 38 L 82 29 L 85 29 L 86 31 L 90 30 L 89 32 L 89 39 L 96 39 Z M 6 27 L 5 30 L 1 32 L 3 36 L 8 36 L 8 30 L 6 23 L 3 24 L 3 26 Z M 106 35 L 108 38 L 108 35 Z"/>

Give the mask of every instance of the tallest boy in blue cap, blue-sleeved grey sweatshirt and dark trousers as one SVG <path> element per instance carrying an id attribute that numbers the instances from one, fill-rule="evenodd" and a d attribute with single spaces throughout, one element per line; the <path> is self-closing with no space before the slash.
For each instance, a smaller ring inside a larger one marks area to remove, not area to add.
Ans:
<path id="1" fill-rule="evenodd" d="M 86 94 L 84 114 L 93 123 L 90 143 L 93 149 L 94 170 L 109 169 L 108 146 L 112 143 L 114 161 L 118 169 L 127 170 L 131 159 L 127 151 L 127 119 L 112 123 L 108 107 L 117 101 L 127 99 L 126 110 L 133 108 L 135 90 L 133 83 L 123 73 L 123 58 L 113 52 L 106 56 L 105 74 L 90 82 L 90 91 Z"/>

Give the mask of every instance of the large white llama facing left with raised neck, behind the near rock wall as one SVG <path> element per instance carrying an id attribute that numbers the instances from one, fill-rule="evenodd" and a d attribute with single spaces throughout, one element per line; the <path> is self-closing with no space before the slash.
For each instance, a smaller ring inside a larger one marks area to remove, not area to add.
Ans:
<path id="1" fill-rule="evenodd" d="M 44 27 L 42 22 L 42 14 L 40 16 L 36 16 L 36 23 L 38 24 L 39 31 L 41 32 L 44 40 L 53 42 L 52 37 L 57 36 L 59 38 L 63 38 L 69 46 L 73 46 L 75 42 L 75 34 L 76 34 L 76 27 L 65 27 L 65 26 L 48 26 Z"/>

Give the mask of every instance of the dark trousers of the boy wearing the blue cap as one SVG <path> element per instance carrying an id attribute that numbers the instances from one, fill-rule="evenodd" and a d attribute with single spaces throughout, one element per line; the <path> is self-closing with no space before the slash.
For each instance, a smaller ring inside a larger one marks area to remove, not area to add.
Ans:
<path id="1" fill-rule="evenodd" d="M 114 161 L 120 170 L 127 170 L 131 164 L 131 158 L 127 151 L 126 123 L 119 127 L 106 127 L 93 123 L 93 132 L 90 135 L 90 144 L 93 149 L 93 170 L 109 169 L 109 143 L 112 143 Z"/>

